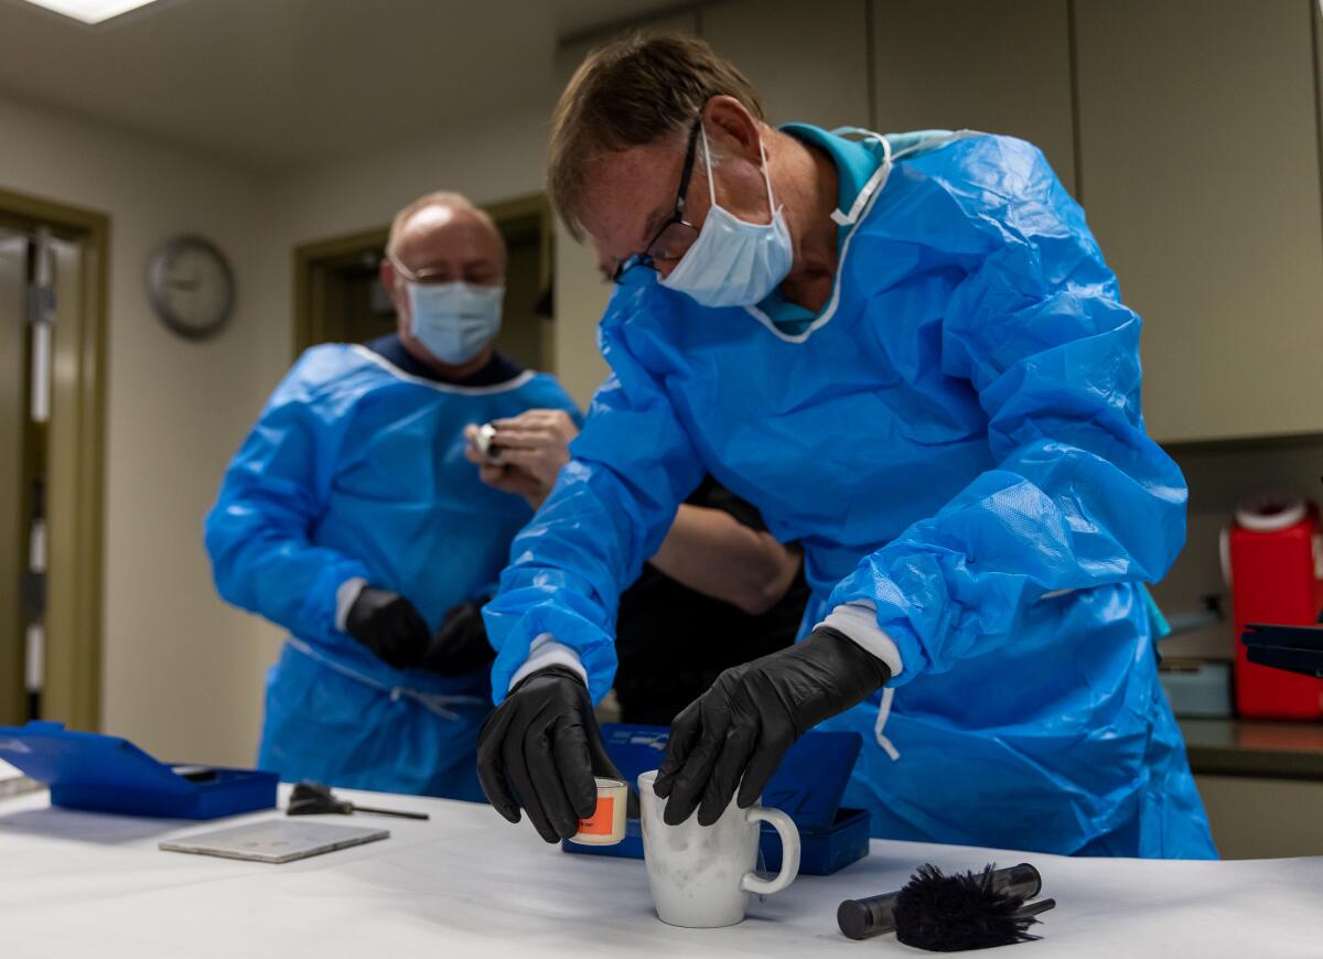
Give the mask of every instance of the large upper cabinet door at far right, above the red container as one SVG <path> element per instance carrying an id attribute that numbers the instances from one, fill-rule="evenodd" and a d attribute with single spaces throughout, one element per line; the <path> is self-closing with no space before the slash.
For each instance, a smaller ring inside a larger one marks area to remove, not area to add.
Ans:
<path id="1" fill-rule="evenodd" d="M 1078 0 L 1089 221 L 1162 440 L 1323 430 L 1312 0 Z"/>

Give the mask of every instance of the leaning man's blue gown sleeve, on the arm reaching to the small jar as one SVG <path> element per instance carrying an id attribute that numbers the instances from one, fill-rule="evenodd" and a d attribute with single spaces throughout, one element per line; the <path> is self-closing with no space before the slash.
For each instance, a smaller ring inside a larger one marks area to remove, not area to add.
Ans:
<path id="1" fill-rule="evenodd" d="M 620 591 L 662 545 L 703 466 L 671 401 L 623 341 L 603 332 L 613 374 L 598 389 L 570 462 L 511 545 L 500 593 L 483 610 L 496 648 L 492 693 L 504 698 L 542 635 L 570 647 L 594 701 L 615 677 Z"/>

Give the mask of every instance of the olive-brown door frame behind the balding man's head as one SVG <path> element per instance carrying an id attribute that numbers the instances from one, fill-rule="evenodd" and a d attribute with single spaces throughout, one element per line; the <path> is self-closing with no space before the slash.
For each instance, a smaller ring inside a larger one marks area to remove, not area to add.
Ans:
<path id="1" fill-rule="evenodd" d="M 529 193 L 513 200 L 503 200 L 495 204 L 479 204 L 479 209 L 487 212 L 499 228 L 511 220 L 538 220 L 538 249 L 541 262 L 538 263 L 538 279 L 544 287 L 552 283 L 556 267 L 554 243 L 556 225 L 552 218 L 552 206 L 546 201 L 545 193 Z M 340 259 L 363 250 L 365 246 L 385 246 L 390 237 L 390 226 L 378 226 L 370 230 L 359 230 L 329 239 L 316 239 L 308 243 L 299 243 L 294 247 L 294 343 L 292 358 L 311 347 L 314 343 L 324 343 L 325 325 L 323 313 L 318 308 L 318 279 L 319 272 L 327 269 L 327 261 Z M 556 324 L 548 323 L 542 331 L 542 356 L 538 366 L 545 372 L 553 372 L 552 364 L 556 358 Z"/>

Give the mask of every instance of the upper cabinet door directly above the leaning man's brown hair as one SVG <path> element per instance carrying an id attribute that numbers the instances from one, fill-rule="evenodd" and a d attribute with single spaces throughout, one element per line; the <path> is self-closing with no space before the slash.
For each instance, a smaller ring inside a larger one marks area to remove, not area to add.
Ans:
<path id="1" fill-rule="evenodd" d="M 769 123 L 867 127 L 865 0 L 732 0 L 704 7 L 703 38 L 762 95 Z"/>

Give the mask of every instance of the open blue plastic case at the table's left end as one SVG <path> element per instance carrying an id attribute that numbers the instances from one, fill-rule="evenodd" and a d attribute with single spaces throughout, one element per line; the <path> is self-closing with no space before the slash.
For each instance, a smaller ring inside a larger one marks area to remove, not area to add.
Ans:
<path id="1" fill-rule="evenodd" d="M 62 722 L 0 726 L 0 759 L 50 787 L 50 804 L 131 816 L 216 819 L 275 806 L 275 772 L 191 767 L 181 774 L 127 739 Z"/>

